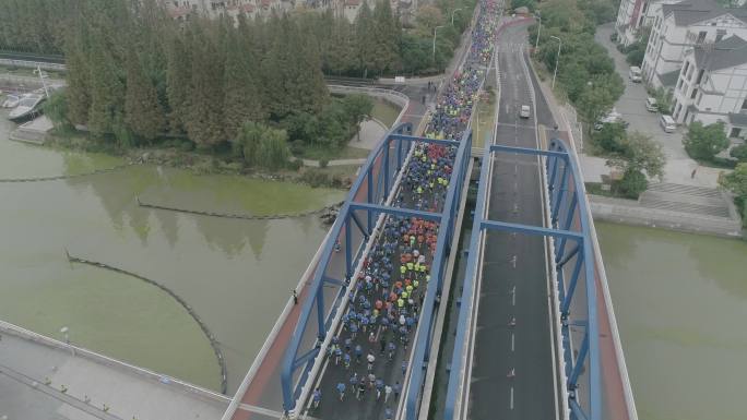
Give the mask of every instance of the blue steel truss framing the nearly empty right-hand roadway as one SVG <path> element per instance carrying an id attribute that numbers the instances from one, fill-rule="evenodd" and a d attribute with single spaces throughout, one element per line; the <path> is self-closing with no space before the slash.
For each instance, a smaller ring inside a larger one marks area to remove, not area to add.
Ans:
<path id="1" fill-rule="evenodd" d="M 493 154 L 510 153 L 542 156 L 545 159 L 545 169 L 548 177 L 547 194 L 550 207 L 550 227 L 538 227 L 487 219 L 486 200 L 488 196 L 487 184 L 489 167 L 493 165 Z M 470 381 L 471 372 L 466 371 L 464 361 L 466 352 L 472 351 L 465 343 L 469 338 L 470 326 L 467 320 L 474 310 L 473 302 L 476 297 L 475 279 L 481 254 L 481 239 L 487 230 L 502 230 L 550 237 L 555 242 L 554 263 L 557 271 L 557 291 L 560 301 L 561 336 L 565 358 L 565 382 L 568 391 L 568 409 L 571 419 L 578 420 L 601 420 L 602 419 L 602 382 L 601 382 L 601 360 L 598 345 L 598 325 L 596 310 L 596 284 L 594 253 L 590 236 L 589 218 L 591 217 L 586 201 L 579 199 L 578 193 L 582 193 L 583 180 L 581 179 L 578 163 L 568 153 L 566 144 L 558 139 L 550 141 L 548 151 L 511 147 L 502 145 L 486 145 L 483 167 L 477 190 L 477 203 L 475 206 L 475 217 L 470 240 L 470 251 L 467 255 L 466 277 L 461 298 L 459 312 L 459 324 L 456 327 L 456 346 L 451 360 L 449 372 L 449 384 L 444 406 L 444 419 L 458 420 L 466 418 L 466 395 L 463 395 L 464 384 Z M 573 269 L 568 283 L 565 279 L 564 267 L 571 260 L 574 261 Z M 582 269 L 583 268 L 583 269 Z M 586 320 L 569 321 L 571 301 L 573 300 L 578 281 L 582 279 L 586 291 Z M 568 286 L 566 286 L 568 285 Z M 570 325 L 583 326 L 584 335 L 578 356 L 573 358 L 571 351 Z M 584 398 L 583 409 L 579 403 L 577 389 L 579 387 L 579 376 L 588 367 L 588 384 L 585 389 L 588 400 Z"/>

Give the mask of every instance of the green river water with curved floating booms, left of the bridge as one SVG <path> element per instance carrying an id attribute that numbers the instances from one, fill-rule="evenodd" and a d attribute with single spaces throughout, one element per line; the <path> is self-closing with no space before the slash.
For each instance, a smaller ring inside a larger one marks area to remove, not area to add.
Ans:
<path id="1" fill-rule="evenodd" d="M 7 140 L 0 178 L 81 173 L 116 165 L 93 154 Z M 229 392 L 261 348 L 325 235 L 315 217 L 235 220 L 138 206 L 265 215 L 337 202 L 344 193 L 294 183 L 193 176 L 154 166 L 61 181 L 0 183 L 0 319 L 127 362 L 220 389 L 208 339 L 171 297 L 135 278 L 70 264 L 117 266 L 179 295 L 221 341 Z"/>

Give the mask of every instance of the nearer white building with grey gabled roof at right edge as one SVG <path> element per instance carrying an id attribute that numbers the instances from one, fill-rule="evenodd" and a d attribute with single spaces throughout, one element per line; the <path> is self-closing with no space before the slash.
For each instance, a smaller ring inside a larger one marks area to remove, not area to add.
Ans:
<path id="1" fill-rule="evenodd" d="M 672 118 L 686 124 L 723 121 L 731 137 L 747 134 L 747 41 L 731 36 L 685 53 Z"/>

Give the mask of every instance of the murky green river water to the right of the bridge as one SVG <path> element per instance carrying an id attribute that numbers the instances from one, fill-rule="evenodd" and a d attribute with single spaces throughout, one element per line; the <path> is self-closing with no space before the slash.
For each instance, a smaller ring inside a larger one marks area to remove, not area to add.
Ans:
<path id="1" fill-rule="evenodd" d="M 639 418 L 745 419 L 747 242 L 596 227 Z"/>

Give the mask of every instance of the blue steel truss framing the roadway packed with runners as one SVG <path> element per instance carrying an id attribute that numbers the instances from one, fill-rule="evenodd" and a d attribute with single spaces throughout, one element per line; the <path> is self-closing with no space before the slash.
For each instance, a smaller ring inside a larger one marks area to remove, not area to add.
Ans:
<path id="1" fill-rule="evenodd" d="M 304 385 L 309 380 L 318 356 L 323 350 L 325 337 L 331 328 L 333 321 L 339 313 L 345 310 L 347 304 L 347 292 L 355 287 L 355 267 L 364 256 L 366 244 L 375 236 L 376 219 L 380 215 L 396 215 L 406 217 L 420 217 L 429 220 L 437 220 L 439 225 L 438 242 L 434 263 L 431 265 L 431 287 L 428 287 L 423 304 L 423 312 L 419 325 L 427 325 L 432 329 L 434 305 L 437 290 L 440 293 L 442 285 L 442 266 L 449 254 L 449 245 L 453 237 L 454 219 L 456 208 L 461 200 L 462 187 L 466 177 L 466 159 L 472 146 L 472 134 L 466 132 L 461 142 L 453 140 L 435 140 L 408 135 L 412 132 L 412 124 L 403 123 L 387 133 L 382 142 L 371 152 L 366 164 L 360 168 L 358 178 L 353 183 L 347 199 L 340 208 L 337 218 L 332 226 L 331 235 L 322 255 L 315 271 L 312 280 L 307 286 L 308 297 L 305 299 L 298 323 L 293 336 L 285 349 L 281 367 L 281 386 L 283 393 L 283 408 L 293 411 L 301 397 Z M 398 177 L 406 165 L 410 151 L 416 142 L 432 143 L 441 145 L 458 146 L 456 158 L 452 170 L 451 180 L 447 190 L 443 209 L 440 213 L 422 212 L 389 205 L 391 199 L 396 196 Z M 392 195 L 394 194 L 394 195 Z M 356 240 L 354 236 L 359 239 Z M 344 250 L 344 279 L 331 277 L 328 272 L 332 257 L 335 253 L 335 244 L 341 244 Z M 354 250 L 354 247 L 357 248 Z M 438 278 L 438 283 L 432 281 Z M 437 284 L 438 287 L 432 287 Z M 324 287 L 327 286 L 327 287 Z M 334 300 L 329 310 L 324 303 L 324 289 L 336 288 Z M 313 313 L 316 312 L 316 316 Z M 309 320 L 316 317 L 316 323 L 309 325 Z M 313 329 L 309 329 L 309 327 Z M 316 339 L 308 339 L 309 332 L 313 333 Z M 304 337 L 307 339 L 304 339 Z M 419 359 L 427 360 L 428 353 L 424 351 L 425 338 L 420 334 L 415 345 L 414 352 Z M 419 349 L 419 350 L 418 350 Z M 300 374 L 298 370 L 303 369 Z M 295 382 L 295 384 L 294 384 Z M 419 383 L 419 382 L 418 382 Z"/>

